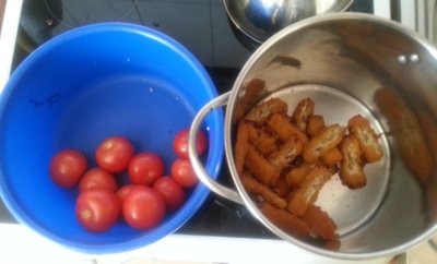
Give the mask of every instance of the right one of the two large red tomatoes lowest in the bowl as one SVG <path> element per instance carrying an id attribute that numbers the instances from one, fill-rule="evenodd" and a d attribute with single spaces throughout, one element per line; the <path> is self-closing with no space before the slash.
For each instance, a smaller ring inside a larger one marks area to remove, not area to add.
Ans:
<path id="1" fill-rule="evenodd" d="M 122 213 L 129 226 L 137 229 L 150 229 L 163 220 L 165 200 L 156 190 L 137 185 L 126 196 Z"/>

